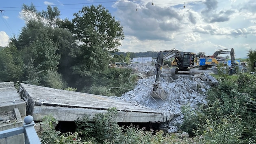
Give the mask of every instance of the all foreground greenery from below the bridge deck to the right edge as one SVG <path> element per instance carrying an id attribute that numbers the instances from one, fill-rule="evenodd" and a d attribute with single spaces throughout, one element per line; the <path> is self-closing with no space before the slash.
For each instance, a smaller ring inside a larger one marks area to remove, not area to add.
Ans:
<path id="1" fill-rule="evenodd" d="M 196 110 L 189 106 L 182 108 L 184 122 L 179 127 L 191 138 L 182 138 L 175 133 L 162 130 L 145 130 L 133 125 L 119 127 L 115 122 L 117 111 L 109 108 L 105 114 L 95 114 L 93 121 L 89 116 L 76 120 L 77 139 L 90 143 L 148 143 L 148 144 L 185 144 L 220 143 L 253 144 L 256 142 L 256 75 L 239 73 L 237 75 L 218 76 L 219 85 L 208 91 L 207 104 Z M 48 131 L 55 133 L 55 131 Z M 54 136 L 48 133 L 47 136 Z M 72 137 L 72 133 L 61 135 Z"/>

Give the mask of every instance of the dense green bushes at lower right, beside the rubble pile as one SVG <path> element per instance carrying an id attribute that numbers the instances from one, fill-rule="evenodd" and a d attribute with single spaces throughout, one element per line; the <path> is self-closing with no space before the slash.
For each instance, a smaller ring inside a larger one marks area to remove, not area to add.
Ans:
<path id="1" fill-rule="evenodd" d="M 208 91 L 208 104 L 186 116 L 184 128 L 195 125 L 194 134 L 206 143 L 255 143 L 256 76 L 239 73 L 219 78 L 219 85 Z M 189 125 L 191 123 L 192 125 Z"/>

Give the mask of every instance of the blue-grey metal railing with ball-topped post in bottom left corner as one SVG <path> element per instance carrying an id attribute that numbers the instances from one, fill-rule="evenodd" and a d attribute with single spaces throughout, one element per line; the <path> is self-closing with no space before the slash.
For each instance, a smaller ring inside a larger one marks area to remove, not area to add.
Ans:
<path id="1" fill-rule="evenodd" d="M 27 117 L 28 116 L 26 116 L 25 119 Z M 35 125 L 34 121 L 25 121 L 25 123 L 23 124 L 23 127 L 16 127 L 13 129 L 0 131 L 0 139 L 5 138 L 5 144 L 8 144 L 7 143 L 8 137 L 24 133 L 25 144 L 41 144 L 39 137 L 37 135 L 37 132 L 35 131 L 34 125 Z"/>

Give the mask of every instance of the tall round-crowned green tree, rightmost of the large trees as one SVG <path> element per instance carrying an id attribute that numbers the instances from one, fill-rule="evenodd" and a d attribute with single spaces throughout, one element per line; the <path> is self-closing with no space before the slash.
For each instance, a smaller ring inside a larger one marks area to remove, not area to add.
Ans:
<path id="1" fill-rule="evenodd" d="M 85 6 L 74 16 L 72 32 L 80 43 L 80 53 L 73 70 L 91 76 L 107 68 L 108 52 L 118 51 L 124 39 L 123 27 L 101 5 Z"/>

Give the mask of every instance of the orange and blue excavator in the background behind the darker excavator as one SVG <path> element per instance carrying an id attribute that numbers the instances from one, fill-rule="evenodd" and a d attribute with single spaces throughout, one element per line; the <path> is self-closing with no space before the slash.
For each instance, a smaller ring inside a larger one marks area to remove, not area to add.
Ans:
<path id="1" fill-rule="evenodd" d="M 200 57 L 200 63 L 199 63 L 199 70 L 205 70 L 206 68 L 211 68 L 212 66 L 215 66 L 219 63 L 226 63 L 226 58 L 219 57 L 220 54 L 226 54 L 231 53 L 230 51 L 225 51 L 228 49 L 219 49 L 218 51 L 215 51 L 213 55 L 209 56 L 202 56 Z"/>

